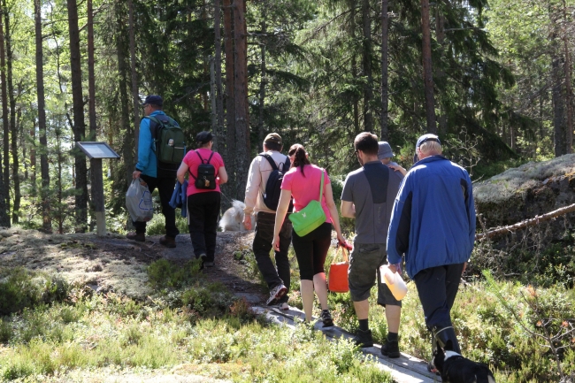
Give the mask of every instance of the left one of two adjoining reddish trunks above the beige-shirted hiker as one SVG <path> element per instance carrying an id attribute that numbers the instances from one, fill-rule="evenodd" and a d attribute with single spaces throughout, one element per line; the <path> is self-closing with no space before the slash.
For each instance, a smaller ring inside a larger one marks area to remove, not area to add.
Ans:
<path id="1" fill-rule="evenodd" d="M 236 137 L 235 137 L 235 103 L 234 103 L 234 9 L 231 0 L 224 4 L 224 50 L 226 50 L 226 150 L 224 162 L 229 180 L 224 185 L 223 193 L 229 199 L 238 198 L 235 191 L 236 172 Z M 242 193 L 243 195 L 243 193 Z"/>

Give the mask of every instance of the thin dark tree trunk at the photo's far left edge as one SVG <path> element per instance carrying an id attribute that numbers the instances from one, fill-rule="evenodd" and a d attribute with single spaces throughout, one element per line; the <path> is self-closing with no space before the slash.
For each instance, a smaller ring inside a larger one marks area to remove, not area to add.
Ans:
<path id="1" fill-rule="evenodd" d="M 0 226 L 10 227 L 10 126 L 8 125 L 8 92 L 6 91 L 6 54 L 4 51 L 4 3 L 0 2 L 2 10 L 0 11 L 0 81 L 2 81 L 2 125 L 3 125 L 3 151 L 4 151 L 4 169 L 3 169 L 3 188 L 0 189 L 3 200 L 3 210 L 0 213 Z"/>

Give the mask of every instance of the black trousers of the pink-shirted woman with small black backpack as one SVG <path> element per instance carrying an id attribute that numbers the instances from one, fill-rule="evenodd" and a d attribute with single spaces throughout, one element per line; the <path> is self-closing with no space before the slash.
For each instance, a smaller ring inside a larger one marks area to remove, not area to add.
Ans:
<path id="1" fill-rule="evenodd" d="M 189 237 L 192 240 L 196 258 L 205 254 L 206 262 L 213 262 L 216 253 L 220 203 L 219 192 L 188 195 Z"/>

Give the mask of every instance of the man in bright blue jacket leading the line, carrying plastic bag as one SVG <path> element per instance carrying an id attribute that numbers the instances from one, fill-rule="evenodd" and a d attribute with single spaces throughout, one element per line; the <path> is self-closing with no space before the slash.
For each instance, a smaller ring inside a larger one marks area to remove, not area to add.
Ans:
<path id="1" fill-rule="evenodd" d="M 157 119 L 168 118 L 162 111 L 163 100 L 160 96 L 147 96 L 143 102 L 144 115 Z M 150 123 L 154 126 L 150 126 Z M 176 212 L 170 206 L 173 188 L 176 185 L 176 173 L 157 171 L 157 157 L 155 148 L 154 132 L 157 132 L 156 122 L 150 119 L 140 121 L 140 135 L 138 142 L 138 163 L 132 173 L 134 180 L 140 179 L 148 184 L 149 193 L 157 188 L 162 204 L 162 213 L 165 217 L 165 236 L 160 238 L 160 243 L 168 248 L 176 247 L 176 235 L 180 234 L 176 227 Z M 129 233 L 126 238 L 133 241 L 146 241 L 146 223 L 134 222 L 135 233 Z"/>

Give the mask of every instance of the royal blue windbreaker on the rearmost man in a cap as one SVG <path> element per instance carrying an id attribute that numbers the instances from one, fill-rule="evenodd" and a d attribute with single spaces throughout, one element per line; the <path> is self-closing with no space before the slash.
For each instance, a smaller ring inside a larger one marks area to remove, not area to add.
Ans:
<path id="1" fill-rule="evenodd" d="M 418 161 L 403 179 L 387 232 L 387 261 L 405 254 L 411 279 L 421 270 L 463 264 L 475 242 L 475 206 L 467 171 L 446 157 Z"/>

